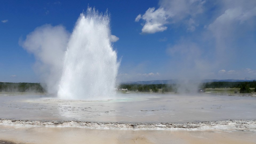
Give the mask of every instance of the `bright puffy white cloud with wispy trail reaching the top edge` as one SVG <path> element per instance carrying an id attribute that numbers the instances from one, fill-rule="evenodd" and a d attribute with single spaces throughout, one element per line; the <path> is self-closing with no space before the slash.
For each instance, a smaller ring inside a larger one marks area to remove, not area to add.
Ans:
<path id="1" fill-rule="evenodd" d="M 145 14 L 139 14 L 135 21 L 143 20 L 142 33 L 156 33 L 167 30 L 167 25 L 185 22 L 188 31 L 194 31 L 193 17 L 203 12 L 202 0 L 161 0 L 159 8 L 149 8 Z"/>

